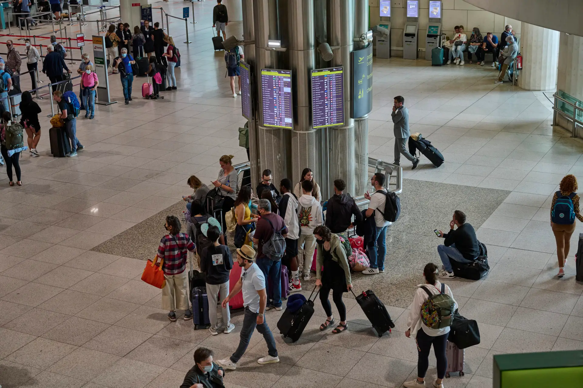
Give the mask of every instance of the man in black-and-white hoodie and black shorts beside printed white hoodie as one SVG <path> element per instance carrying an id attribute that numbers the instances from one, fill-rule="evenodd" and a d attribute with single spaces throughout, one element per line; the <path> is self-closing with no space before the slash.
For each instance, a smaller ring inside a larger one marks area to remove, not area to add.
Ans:
<path id="1" fill-rule="evenodd" d="M 297 218 L 298 202 L 296 195 L 291 192 L 290 179 L 282 179 L 279 184 L 279 192 L 282 193 L 282 199 L 279 202 L 279 216 L 287 227 L 286 237 L 286 254 L 283 256 L 282 263 L 291 271 L 291 292 L 301 291 L 300 271 L 297 264 L 297 240 L 300 238 L 300 222 Z"/>

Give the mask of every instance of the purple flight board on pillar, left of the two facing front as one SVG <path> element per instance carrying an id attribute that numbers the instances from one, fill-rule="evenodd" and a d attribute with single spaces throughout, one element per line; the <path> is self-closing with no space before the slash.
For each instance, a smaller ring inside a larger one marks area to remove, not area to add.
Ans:
<path id="1" fill-rule="evenodd" d="M 293 128 L 290 70 L 261 69 L 263 125 Z"/>

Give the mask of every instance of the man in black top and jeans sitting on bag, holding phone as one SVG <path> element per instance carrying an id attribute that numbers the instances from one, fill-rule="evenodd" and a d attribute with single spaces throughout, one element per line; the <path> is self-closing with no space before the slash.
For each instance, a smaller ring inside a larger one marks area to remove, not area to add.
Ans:
<path id="1" fill-rule="evenodd" d="M 457 225 L 457 229 L 454 227 Z M 476 231 L 472 225 L 466 223 L 466 215 L 461 210 L 454 211 L 454 217 L 449 223 L 449 233 L 439 231 L 440 237 L 445 238 L 444 245 L 437 247 L 444 269 L 439 277 L 454 277 L 454 270 L 449 259 L 458 263 L 471 263 L 480 256 L 480 246 L 476 238 Z"/>

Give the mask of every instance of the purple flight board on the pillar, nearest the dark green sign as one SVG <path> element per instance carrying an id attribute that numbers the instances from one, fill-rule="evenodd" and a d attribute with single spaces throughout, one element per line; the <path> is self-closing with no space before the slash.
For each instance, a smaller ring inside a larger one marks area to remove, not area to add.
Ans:
<path id="1" fill-rule="evenodd" d="M 344 124 L 344 71 L 312 70 L 312 120 L 314 128 Z"/>

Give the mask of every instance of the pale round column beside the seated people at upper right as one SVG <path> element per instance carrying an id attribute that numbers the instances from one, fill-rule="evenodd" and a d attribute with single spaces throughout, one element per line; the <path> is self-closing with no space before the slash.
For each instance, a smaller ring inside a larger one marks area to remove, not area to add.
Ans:
<path id="1" fill-rule="evenodd" d="M 518 86 L 526 90 L 554 90 L 557 82 L 559 31 L 522 23 L 522 71 Z"/>

